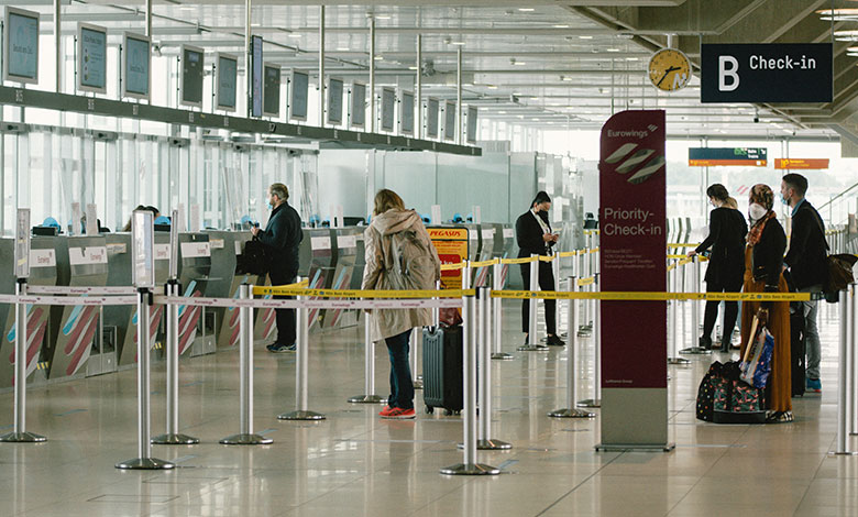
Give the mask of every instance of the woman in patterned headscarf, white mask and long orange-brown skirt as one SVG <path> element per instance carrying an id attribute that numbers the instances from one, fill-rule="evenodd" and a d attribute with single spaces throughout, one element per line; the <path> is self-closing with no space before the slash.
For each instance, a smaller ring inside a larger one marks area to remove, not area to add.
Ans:
<path id="1" fill-rule="evenodd" d="M 750 190 L 748 217 L 750 231 L 745 249 L 745 293 L 789 293 L 783 271 L 787 234 L 772 211 L 774 194 L 768 185 Z M 752 339 L 754 316 L 774 338 L 771 374 L 766 386 L 767 421 L 792 421 L 789 301 L 744 301 L 741 304 L 741 356 Z"/>

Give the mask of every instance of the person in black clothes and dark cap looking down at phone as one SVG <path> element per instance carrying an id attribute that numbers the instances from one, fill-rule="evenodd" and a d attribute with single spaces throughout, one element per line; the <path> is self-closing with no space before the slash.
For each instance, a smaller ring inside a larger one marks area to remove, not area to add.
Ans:
<path id="1" fill-rule="evenodd" d="M 551 255 L 559 235 L 551 231 L 551 223 L 548 221 L 548 211 L 551 209 L 551 198 L 544 191 L 539 191 L 530 204 L 530 209 L 518 217 L 516 220 L 516 242 L 518 243 L 518 257 L 528 257 L 531 254 Z M 525 283 L 525 289 L 530 288 L 530 264 L 520 264 L 521 279 Z M 551 264 L 539 262 L 539 287 L 542 290 L 554 290 L 554 274 L 551 271 Z M 546 307 L 546 328 L 548 331 L 547 343 L 553 346 L 563 346 L 564 343 L 557 336 L 557 301 L 552 299 L 544 300 Z M 521 301 L 521 329 L 525 332 L 525 345 L 527 345 L 528 333 L 530 329 L 530 300 L 525 298 Z"/>

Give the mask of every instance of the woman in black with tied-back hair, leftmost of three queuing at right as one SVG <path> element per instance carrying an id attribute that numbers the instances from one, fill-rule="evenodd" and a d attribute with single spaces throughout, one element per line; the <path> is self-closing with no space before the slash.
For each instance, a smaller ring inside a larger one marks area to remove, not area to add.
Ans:
<path id="1" fill-rule="evenodd" d="M 724 185 L 714 184 L 706 189 L 710 204 L 715 207 L 710 212 L 710 234 L 689 256 L 694 256 L 712 248 L 710 264 L 706 267 L 706 293 L 739 293 L 745 274 L 745 235 L 748 224 L 738 210 L 729 208 L 729 194 Z M 703 336 L 700 346 L 712 349 L 712 329 L 718 317 L 721 301 L 707 300 L 703 317 Z M 724 332 L 721 351 L 729 352 L 733 328 L 739 314 L 738 301 L 724 302 Z"/>

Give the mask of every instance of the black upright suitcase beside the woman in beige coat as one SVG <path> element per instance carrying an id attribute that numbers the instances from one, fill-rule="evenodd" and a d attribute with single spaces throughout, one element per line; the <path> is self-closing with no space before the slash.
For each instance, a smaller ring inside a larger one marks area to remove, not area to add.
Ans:
<path id="1" fill-rule="evenodd" d="M 424 329 L 424 403 L 426 413 L 458 414 L 462 394 L 462 327 Z"/>

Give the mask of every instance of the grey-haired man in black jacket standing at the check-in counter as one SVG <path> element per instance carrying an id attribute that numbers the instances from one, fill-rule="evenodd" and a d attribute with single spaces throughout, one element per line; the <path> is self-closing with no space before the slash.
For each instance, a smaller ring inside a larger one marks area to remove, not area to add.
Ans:
<path id="1" fill-rule="evenodd" d="M 286 202 L 289 189 L 282 183 L 268 187 L 268 206 L 272 208 L 271 219 L 265 230 L 254 228 L 251 231 L 265 244 L 268 252 L 268 273 L 272 285 L 285 285 L 295 282 L 298 275 L 298 246 L 304 233 L 301 217 Z M 288 299 L 288 296 L 275 296 L 276 299 Z M 277 340 L 267 349 L 271 352 L 295 351 L 295 309 L 276 309 Z"/>

